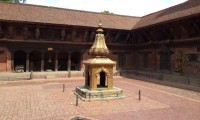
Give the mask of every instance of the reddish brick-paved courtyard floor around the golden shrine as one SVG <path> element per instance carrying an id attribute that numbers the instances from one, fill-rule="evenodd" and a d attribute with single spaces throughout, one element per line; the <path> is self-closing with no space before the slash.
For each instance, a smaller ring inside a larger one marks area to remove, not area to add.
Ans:
<path id="1" fill-rule="evenodd" d="M 198 92 L 117 77 L 124 99 L 76 106 L 73 92 L 83 84 L 83 78 L 1 81 L 0 120 L 200 120 Z"/>

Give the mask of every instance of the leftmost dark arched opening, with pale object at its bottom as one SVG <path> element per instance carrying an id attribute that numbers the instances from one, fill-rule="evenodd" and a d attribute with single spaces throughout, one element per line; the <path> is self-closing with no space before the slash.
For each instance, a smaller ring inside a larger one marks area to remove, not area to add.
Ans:
<path id="1" fill-rule="evenodd" d="M 16 72 L 26 71 L 26 52 L 18 50 L 14 53 L 14 69 Z"/>

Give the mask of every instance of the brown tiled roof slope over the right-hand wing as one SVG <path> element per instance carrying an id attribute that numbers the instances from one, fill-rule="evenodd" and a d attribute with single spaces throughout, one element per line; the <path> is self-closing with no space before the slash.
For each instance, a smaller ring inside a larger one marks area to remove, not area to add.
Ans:
<path id="1" fill-rule="evenodd" d="M 195 14 L 200 15 L 200 1 L 189 0 L 182 4 L 143 16 L 140 21 L 135 26 L 133 26 L 133 29 L 142 28 L 145 26 L 175 20 Z"/>

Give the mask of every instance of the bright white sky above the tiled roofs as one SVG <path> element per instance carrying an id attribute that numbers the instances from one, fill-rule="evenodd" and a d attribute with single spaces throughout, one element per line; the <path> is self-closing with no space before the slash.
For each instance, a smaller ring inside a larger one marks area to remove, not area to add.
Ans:
<path id="1" fill-rule="evenodd" d="M 144 16 L 187 0 L 27 0 L 27 4 L 59 8 L 101 12 L 108 10 L 114 14 Z"/>

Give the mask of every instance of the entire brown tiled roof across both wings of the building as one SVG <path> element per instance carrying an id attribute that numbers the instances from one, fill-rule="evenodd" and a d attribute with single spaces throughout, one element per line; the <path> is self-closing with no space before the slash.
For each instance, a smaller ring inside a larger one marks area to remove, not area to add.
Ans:
<path id="1" fill-rule="evenodd" d="M 101 21 L 104 28 L 122 30 L 143 28 L 197 14 L 200 15 L 199 0 L 188 0 L 182 4 L 143 16 L 141 18 L 47 6 L 0 2 L 0 20 L 86 27 L 97 27 L 99 21 Z"/>

